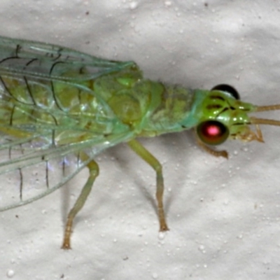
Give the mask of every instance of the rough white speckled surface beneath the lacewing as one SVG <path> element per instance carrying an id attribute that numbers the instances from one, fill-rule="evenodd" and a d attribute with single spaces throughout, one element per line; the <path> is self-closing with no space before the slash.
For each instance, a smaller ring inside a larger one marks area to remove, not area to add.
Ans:
<path id="1" fill-rule="evenodd" d="M 2 0 L 0 25 L 1 35 L 133 59 L 155 80 L 229 83 L 246 102 L 280 103 L 279 1 Z M 59 248 L 64 207 L 86 173 L 0 214 L 0 279 L 279 279 L 280 130 L 262 132 L 265 144 L 223 145 L 229 160 L 188 132 L 143 141 L 164 167 L 165 234 L 151 168 L 125 145 L 100 155 L 71 251 Z"/>

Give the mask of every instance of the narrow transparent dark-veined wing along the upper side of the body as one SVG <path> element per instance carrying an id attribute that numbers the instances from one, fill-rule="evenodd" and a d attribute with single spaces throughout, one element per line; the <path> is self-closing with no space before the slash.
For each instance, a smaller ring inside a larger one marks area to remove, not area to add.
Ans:
<path id="1" fill-rule="evenodd" d="M 28 77 L 71 82 L 97 78 L 134 65 L 134 62 L 101 59 L 59 45 L 3 36 L 0 36 L 0 50 L 0 73 L 13 77 L 24 73 Z M 82 71 L 84 67 L 86 72 Z M 64 75 L 69 69 L 75 71 L 75 77 Z"/>

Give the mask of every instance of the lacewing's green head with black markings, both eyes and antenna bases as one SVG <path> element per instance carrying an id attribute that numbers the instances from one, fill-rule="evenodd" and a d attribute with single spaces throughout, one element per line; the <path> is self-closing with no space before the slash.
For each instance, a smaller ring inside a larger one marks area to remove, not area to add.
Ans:
<path id="1" fill-rule="evenodd" d="M 222 144 L 226 139 L 263 142 L 259 125 L 280 126 L 280 121 L 249 115 L 279 109 L 280 104 L 255 106 L 241 102 L 235 88 L 230 85 L 217 85 L 208 92 L 202 102 L 200 123 L 196 127 L 197 136 L 207 145 Z M 255 130 L 252 130 L 252 125 L 255 126 Z"/>

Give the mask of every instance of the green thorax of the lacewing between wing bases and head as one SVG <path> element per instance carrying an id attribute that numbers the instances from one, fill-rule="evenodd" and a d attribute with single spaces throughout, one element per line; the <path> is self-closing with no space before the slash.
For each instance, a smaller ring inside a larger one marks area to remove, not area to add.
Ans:
<path id="1" fill-rule="evenodd" d="M 181 131 L 183 120 L 190 116 L 194 97 L 193 91 L 183 87 L 144 79 L 135 64 L 97 78 L 94 91 L 123 124 L 144 137 Z"/>

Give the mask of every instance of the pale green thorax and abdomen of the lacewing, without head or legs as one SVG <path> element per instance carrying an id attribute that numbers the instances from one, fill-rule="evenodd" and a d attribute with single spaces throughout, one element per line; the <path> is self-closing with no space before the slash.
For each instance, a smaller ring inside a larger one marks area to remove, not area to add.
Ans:
<path id="1" fill-rule="evenodd" d="M 67 69 L 62 77 L 78 76 L 78 71 Z M 106 139 L 117 144 L 114 139 L 124 134 L 130 135 L 127 140 L 155 137 L 188 130 L 209 118 L 202 110 L 208 90 L 144 79 L 132 62 L 88 80 L 52 78 L 38 83 L 38 77 L 27 76 L 27 85 L 25 77 L 2 76 L 10 94 L 1 95 L 0 130 L 15 137 L 39 134 L 55 146 Z"/>

